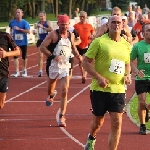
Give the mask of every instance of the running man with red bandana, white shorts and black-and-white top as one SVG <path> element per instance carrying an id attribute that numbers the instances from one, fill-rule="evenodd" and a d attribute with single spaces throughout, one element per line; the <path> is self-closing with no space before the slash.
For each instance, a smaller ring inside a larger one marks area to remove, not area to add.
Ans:
<path id="1" fill-rule="evenodd" d="M 56 82 L 60 80 L 60 114 L 58 126 L 65 127 L 65 113 L 67 107 L 67 93 L 69 87 L 69 69 L 71 67 L 69 58 L 72 51 L 76 58 L 81 61 L 81 57 L 74 45 L 74 34 L 68 32 L 69 17 L 67 15 L 58 16 L 58 30 L 54 30 L 48 34 L 40 46 L 40 50 L 47 59 L 47 73 L 49 76 L 49 91 L 46 99 L 46 106 L 51 106 L 54 100 L 54 89 Z M 49 45 L 50 44 L 50 45 Z M 48 47 L 49 46 L 49 47 Z M 47 49 L 48 47 L 48 49 Z M 48 69 L 49 68 L 49 69 Z"/>

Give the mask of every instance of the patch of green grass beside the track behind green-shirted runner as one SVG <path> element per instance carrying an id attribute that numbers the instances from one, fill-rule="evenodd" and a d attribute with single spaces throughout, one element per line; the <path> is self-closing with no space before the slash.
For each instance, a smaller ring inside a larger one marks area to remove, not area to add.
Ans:
<path id="1" fill-rule="evenodd" d="M 146 95 L 146 102 L 150 102 L 150 94 Z M 139 117 L 138 117 L 138 113 L 137 113 L 137 109 L 138 109 L 138 98 L 137 96 L 135 96 L 130 103 L 130 113 L 133 119 L 136 120 L 137 123 L 139 122 Z M 150 130 L 150 122 L 146 123 L 146 127 L 148 130 Z"/>

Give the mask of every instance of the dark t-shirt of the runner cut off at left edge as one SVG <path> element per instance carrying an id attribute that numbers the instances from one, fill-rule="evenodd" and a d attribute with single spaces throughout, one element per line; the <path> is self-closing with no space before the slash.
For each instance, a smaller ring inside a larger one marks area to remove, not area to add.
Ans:
<path id="1" fill-rule="evenodd" d="M 13 41 L 9 33 L 0 31 L 0 47 L 5 51 L 15 50 L 17 47 L 16 43 Z M 8 57 L 1 58 L 0 61 L 0 77 L 8 77 L 9 71 L 9 60 Z"/>

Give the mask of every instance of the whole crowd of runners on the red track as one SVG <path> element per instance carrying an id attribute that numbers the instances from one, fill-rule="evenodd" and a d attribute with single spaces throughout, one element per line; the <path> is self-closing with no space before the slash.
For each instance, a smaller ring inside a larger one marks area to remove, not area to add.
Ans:
<path id="1" fill-rule="evenodd" d="M 146 93 L 150 92 L 150 11 L 147 5 L 143 10 L 132 6 L 124 14 L 114 7 L 110 17 L 101 18 L 101 26 L 94 29 L 87 23 L 87 12 L 75 11 L 74 17 L 80 21 L 70 26 L 69 17 L 60 14 L 56 29 L 39 12 L 39 21 L 31 31 L 24 20 L 23 11 L 16 10 L 16 16 L 10 21 L 10 34 L 0 31 L 0 108 L 4 107 L 8 90 L 9 60 L 14 56 L 14 77 L 27 77 L 27 34 L 38 36 L 36 43 L 39 51 L 37 76 L 47 75 L 46 106 L 52 106 L 57 94 L 57 81 L 60 82 L 59 127 L 66 127 L 66 108 L 69 82 L 72 77 L 74 59 L 78 60 L 81 71 L 81 83 L 85 84 L 87 74 L 92 76 L 90 103 L 92 121 L 85 150 L 94 150 L 96 134 L 104 123 L 105 113 L 109 112 L 111 129 L 108 149 L 116 150 L 121 136 L 122 114 L 125 107 L 127 85 L 132 84 L 131 74 L 135 75 L 135 91 L 138 96 L 139 134 L 146 135 L 145 122 L 149 120 L 150 104 L 146 103 Z M 18 56 L 22 57 L 22 71 L 19 70 Z M 43 55 L 46 66 L 43 67 Z M 135 61 L 136 60 L 136 61 Z M 43 69 L 44 68 L 44 69 Z"/>

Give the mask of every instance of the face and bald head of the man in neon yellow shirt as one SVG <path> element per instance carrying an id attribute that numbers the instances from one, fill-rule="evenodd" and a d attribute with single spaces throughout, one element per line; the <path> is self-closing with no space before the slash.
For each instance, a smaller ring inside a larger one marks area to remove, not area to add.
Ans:
<path id="1" fill-rule="evenodd" d="M 122 18 L 120 16 L 110 17 L 108 27 L 110 32 L 120 34 L 122 30 Z"/>

